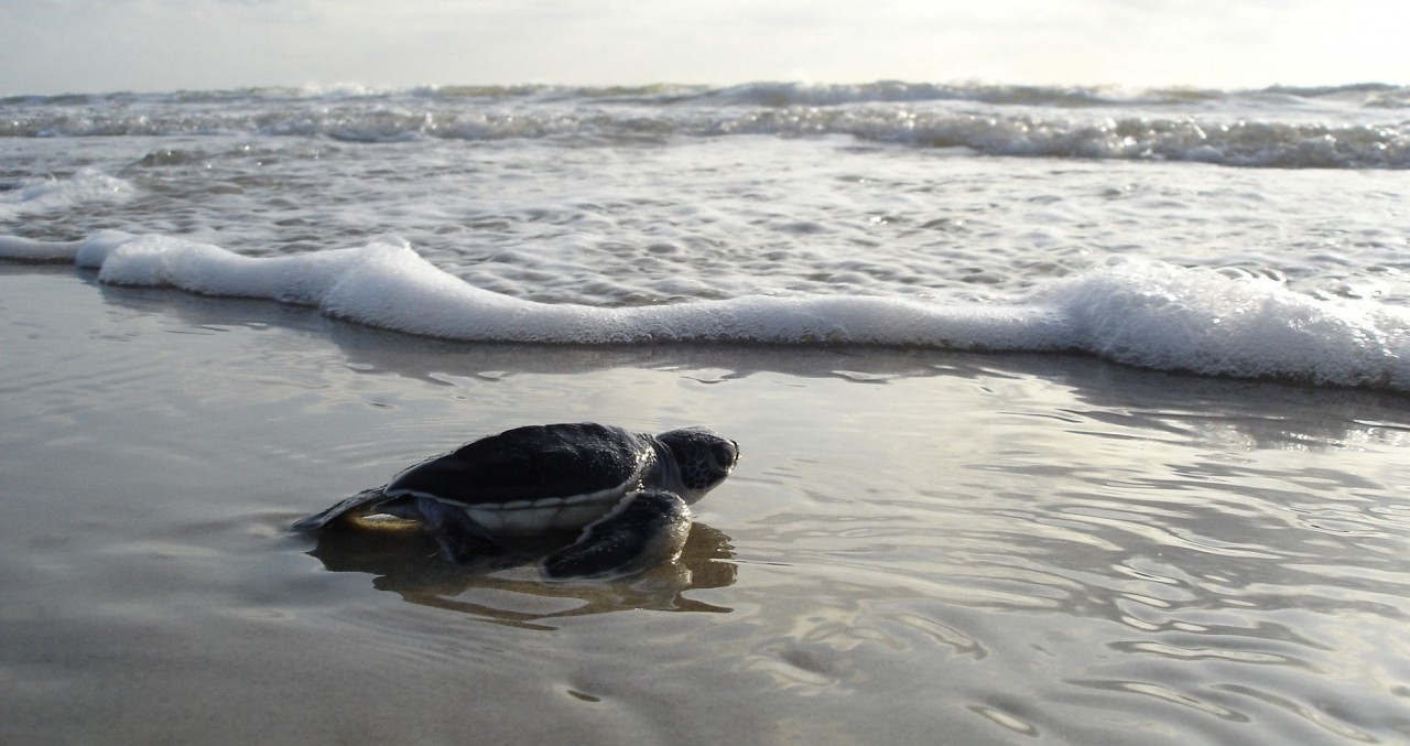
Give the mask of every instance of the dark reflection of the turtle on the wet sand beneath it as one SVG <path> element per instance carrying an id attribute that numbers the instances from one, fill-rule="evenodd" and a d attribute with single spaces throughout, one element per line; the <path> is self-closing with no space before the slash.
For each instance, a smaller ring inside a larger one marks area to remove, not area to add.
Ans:
<path id="1" fill-rule="evenodd" d="M 629 609 L 733 611 L 685 597 L 692 588 L 733 585 L 737 574 L 729 561 L 735 557 L 729 537 L 699 522 L 691 525 L 680 558 L 613 581 L 543 581 L 526 565 L 544 547 L 532 549 L 536 551 L 525 551 L 494 570 L 460 567 L 440 557 L 434 539 L 407 525 L 324 530 L 309 554 L 333 573 L 376 575 L 375 588 L 412 604 L 527 629 L 554 629 L 537 623 L 544 619 Z M 525 611 L 526 606 L 534 611 Z"/>

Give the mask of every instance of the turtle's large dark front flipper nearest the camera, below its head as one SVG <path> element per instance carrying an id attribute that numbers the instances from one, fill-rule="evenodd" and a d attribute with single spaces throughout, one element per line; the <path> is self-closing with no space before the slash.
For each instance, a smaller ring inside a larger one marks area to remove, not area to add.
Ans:
<path id="1" fill-rule="evenodd" d="M 680 557 L 689 527 L 691 509 L 674 492 L 630 492 L 539 567 L 548 580 L 630 575 Z"/>

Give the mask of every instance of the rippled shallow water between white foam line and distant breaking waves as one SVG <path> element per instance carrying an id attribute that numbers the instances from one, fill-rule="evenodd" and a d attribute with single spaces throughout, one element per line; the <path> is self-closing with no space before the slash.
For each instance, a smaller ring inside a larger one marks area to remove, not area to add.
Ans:
<path id="1" fill-rule="evenodd" d="M 548 303 L 1011 302 L 1118 257 L 1410 299 L 1403 171 L 994 158 L 845 137 L 6 145 L 0 178 L 20 188 L 0 190 L 0 220 L 28 237 L 120 228 L 285 255 L 395 234 L 477 288 Z"/>

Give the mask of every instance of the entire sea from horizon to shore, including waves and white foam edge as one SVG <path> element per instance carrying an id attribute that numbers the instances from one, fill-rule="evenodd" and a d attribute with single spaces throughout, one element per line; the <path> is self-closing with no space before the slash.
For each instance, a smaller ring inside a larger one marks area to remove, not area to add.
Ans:
<path id="1" fill-rule="evenodd" d="M 11 97 L 0 258 L 470 341 L 1083 351 L 1404 393 L 1404 103 L 907 83 Z"/>

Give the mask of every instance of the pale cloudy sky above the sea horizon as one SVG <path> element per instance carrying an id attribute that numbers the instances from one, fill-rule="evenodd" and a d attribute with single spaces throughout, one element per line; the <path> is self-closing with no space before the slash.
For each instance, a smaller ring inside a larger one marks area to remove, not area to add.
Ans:
<path id="1" fill-rule="evenodd" d="M 0 94 L 1410 85 L 1403 0 L 0 0 Z"/>

